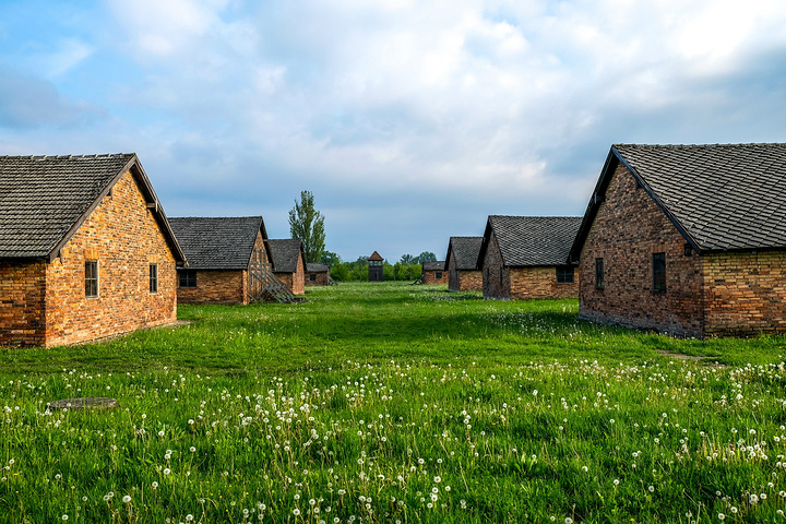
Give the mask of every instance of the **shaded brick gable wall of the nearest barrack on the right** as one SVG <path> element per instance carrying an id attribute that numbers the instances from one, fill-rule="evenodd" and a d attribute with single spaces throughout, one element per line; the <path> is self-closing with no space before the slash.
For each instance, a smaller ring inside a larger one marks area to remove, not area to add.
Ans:
<path id="1" fill-rule="evenodd" d="M 623 166 L 581 252 L 580 317 L 597 322 L 700 336 L 701 259 L 684 254 L 684 238 Z M 652 255 L 666 253 L 666 291 L 653 290 Z M 595 259 L 604 259 L 604 289 L 595 288 Z"/>

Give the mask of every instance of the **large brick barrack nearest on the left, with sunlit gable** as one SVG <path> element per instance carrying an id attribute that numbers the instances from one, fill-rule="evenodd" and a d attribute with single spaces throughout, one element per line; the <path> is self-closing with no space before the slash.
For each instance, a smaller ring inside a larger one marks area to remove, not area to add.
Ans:
<path id="1" fill-rule="evenodd" d="M 0 157 L 0 345 L 175 322 L 184 261 L 136 155 Z"/>

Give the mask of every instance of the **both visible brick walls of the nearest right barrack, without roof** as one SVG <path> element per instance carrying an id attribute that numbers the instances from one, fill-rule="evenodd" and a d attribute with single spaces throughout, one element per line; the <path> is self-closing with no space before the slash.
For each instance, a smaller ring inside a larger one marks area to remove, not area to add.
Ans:
<path id="1" fill-rule="evenodd" d="M 653 289 L 653 253 L 666 290 Z M 603 289 L 595 260 L 604 259 Z M 786 332 L 786 253 L 686 251 L 686 239 L 620 165 L 581 252 L 580 317 L 678 336 Z"/>

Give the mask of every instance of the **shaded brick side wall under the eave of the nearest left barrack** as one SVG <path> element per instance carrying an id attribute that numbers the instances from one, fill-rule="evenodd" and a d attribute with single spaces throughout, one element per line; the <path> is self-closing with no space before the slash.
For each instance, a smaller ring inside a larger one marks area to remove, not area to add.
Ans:
<path id="1" fill-rule="evenodd" d="M 0 261 L 0 345 L 45 344 L 46 263 Z"/>

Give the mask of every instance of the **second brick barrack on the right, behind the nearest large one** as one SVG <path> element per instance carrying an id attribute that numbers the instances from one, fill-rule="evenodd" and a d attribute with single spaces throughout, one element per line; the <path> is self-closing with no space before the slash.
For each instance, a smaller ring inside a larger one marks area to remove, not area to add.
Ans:
<path id="1" fill-rule="evenodd" d="M 568 263 L 581 216 L 491 215 L 480 246 L 484 298 L 576 298 Z"/>

